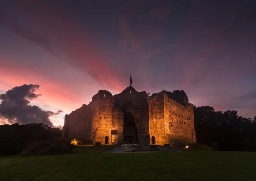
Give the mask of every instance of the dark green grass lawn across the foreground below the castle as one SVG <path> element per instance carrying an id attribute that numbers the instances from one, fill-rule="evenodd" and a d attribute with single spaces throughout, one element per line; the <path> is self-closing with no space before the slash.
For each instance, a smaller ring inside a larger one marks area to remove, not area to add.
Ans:
<path id="1" fill-rule="evenodd" d="M 255 181 L 256 152 L 100 153 L 0 157 L 0 181 Z"/>

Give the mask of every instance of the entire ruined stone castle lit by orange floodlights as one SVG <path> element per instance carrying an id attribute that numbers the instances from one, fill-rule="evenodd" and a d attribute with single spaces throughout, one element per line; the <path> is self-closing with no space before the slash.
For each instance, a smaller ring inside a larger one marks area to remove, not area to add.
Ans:
<path id="1" fill-rule="evenodd" d="M 132 86 L 114 96 L 99 90 L 88 105 L 65 115 L 62 136 L 102 145 L 186 145 L 196 142 L 193 105 L 183 90 L 151 96 Z"/>

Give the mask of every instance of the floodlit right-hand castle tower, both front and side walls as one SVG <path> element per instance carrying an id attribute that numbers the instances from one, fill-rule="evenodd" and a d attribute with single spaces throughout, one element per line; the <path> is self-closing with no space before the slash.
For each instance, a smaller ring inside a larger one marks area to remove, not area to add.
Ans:
<path id="1" fill-rule="evenodd" d="M 148 98 L 151 138 L 154 136 L 155 144 L 158 145 L 182 146 L 196 142 L 192 104 L 183 106 L 171 99 L 170 96 L 174 98 L 174 94 L 170 93 L 162 91 Z M 185 96 L 181 92 L 177 98 L 180 98 L 181 103 L 188 103 Z"/>

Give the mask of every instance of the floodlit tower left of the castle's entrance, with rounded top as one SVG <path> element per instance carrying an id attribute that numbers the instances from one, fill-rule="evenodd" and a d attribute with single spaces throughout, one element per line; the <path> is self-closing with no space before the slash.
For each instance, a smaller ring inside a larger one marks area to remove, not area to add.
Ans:
<path id="1" fill-rule="evenodd" d="M 105 90 L 93 96 L 93 121 L 92 121 L 92 142 L 101 142 L 105 144 L 105 137 L 108 136 L 109 144 L 111 139 L 112 127 L 112 94 Z"/>

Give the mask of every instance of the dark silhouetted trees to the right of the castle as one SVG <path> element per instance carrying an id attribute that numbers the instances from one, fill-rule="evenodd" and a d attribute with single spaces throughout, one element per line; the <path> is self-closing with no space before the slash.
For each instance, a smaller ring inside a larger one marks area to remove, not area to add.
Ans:
<path id="1" fill-rule="evenodd" d="M 210 106 L 194 106 L 196 139 L 211 146 L 218 142 L 221 150 L 256 151 L 256 117 L 242 118 L 237 111 L 215 111 Z"/>

